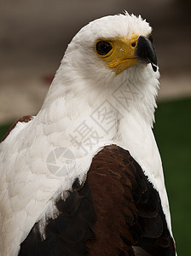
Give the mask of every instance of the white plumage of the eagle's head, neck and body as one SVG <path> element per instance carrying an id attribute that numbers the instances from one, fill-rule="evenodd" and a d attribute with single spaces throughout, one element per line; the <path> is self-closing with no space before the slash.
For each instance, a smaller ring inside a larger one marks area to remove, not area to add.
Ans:
<path id="1" fill-rule="evenodd" d="M 54 218 L 56 195 L 70 189 L 76 177 L 83 180 L 94 154 L 109 143 L 130 150 L 142 166 L 159 191 L 171 230 L 163 171 L 151 130 L 159 72 L 154 73 L 150 64 L 139 63 L 116 75 L 95 53 L 97 38 L 148 35 L 151 30 L 141 16 L 127 13 L 84 26 L 68 45 L 38 115 L 27 124 L 18 124 L 1 143 L 2 256 L 16 255 L 20 241 L 26 238 L 33 224 L 40 218 L 46 219 L 45 212 L 47 218 Z M 113 114 L 110 123 L 101 120 L 99 123 L 96 119 L 99 108 L 108 108 Z M 94 136 L 98 135 L 91 148 L 87 140 L 79 141 L 77 136 L 79 125 L 84 123 L 95 132 Z M 73 138 L 80 145 L 73 143 Z M 68 148 L 76 159 L 75 168 L 62 177 L 47 168 L 47 157 L 55 148 Z M 19 197 L 19 207 L 9 197 L 11 193 L 16 193 L 14 198 Z"/>

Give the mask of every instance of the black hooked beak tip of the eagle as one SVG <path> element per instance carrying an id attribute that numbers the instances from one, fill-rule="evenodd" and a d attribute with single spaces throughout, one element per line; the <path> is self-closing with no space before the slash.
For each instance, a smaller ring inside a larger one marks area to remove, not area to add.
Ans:
<path id="1" fill-rule="evenodd" d="M 135 55 L 146 63 L 151 63 L 153 71 L 157 71 L 157 55 L 151 41 L 143 36 L 137 40 Z"/>

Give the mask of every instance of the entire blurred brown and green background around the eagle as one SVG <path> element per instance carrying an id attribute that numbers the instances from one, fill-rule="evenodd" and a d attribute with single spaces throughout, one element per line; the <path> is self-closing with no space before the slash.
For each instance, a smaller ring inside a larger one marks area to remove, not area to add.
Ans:
<path id="1" fill-rule="evenodd" d="M 179 255 L 191 255 L 191 2 L 0 0 L 0 136 L 38 113 L 67 44 L 90 20 L 142 15 L 153 27 L 161 73 L 154 133 L 162 155 Z"/>

